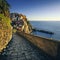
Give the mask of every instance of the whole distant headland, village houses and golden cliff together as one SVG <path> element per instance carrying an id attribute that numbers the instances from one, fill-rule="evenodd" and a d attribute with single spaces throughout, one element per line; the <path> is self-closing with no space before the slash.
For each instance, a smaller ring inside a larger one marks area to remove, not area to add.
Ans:
<path id="1" fill-rule="evenodd" d="M 25 33 L 30 33 L 31 25 L 27 22 L 27 18 L 25 15 L 18 14 L 18 13 L 11 13 L 10 18 L 12 21 L 13 28 L 17 28 L 20 31 L 23 31 Z"/>

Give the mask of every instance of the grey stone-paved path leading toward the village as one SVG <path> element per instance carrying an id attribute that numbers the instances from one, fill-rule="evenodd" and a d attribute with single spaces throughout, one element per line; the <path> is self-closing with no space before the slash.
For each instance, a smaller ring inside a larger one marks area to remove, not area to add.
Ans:
<path id="1" fill-rule="evenodd" d="M 53 60 L 25 38 L 14 34 L 7 48 L 0 54 L 0 60 Z"/>

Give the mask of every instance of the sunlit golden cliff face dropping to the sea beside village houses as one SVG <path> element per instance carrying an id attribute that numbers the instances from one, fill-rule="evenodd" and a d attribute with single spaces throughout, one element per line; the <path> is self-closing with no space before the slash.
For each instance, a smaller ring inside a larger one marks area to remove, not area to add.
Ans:
<path id="1" fill-rule="evenodd" d="M 21 15 L 21 19 L 24 22 L 24 25 L 22 26 L 22 31 L 30 34 L 32 32 L 32 26 L 31 26 L 30 22 L 27 20 L 25 15 Z"/>

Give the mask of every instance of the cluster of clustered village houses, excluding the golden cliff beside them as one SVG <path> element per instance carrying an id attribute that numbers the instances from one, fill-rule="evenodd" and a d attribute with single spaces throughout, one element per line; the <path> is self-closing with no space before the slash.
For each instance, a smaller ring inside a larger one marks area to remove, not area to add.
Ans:
<path id="1" fill-rule="evenodd" d="M 19 16 L 18 13 L 11 13 L 10 18 L 11 18 L 13 27 L 22 28 L 22 26 L 24 25 L 24 22 L 22 20 L 22 16 Z"/>

